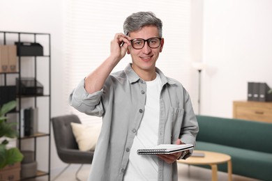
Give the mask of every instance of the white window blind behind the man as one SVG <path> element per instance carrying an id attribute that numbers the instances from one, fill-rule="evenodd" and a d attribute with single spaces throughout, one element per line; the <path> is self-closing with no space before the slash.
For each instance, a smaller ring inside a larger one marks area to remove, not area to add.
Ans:
<path id="1" fill-rule="evenodd" d="M 67 0 L 64 5 L 65 99 L 79 81 L 109 56 L 110 41 L 123 32 L 123 21 L 132 13 L 152 11 L 163 21 L 165 45 L 157 67 L 166 76 L 189 86 L 190 71 L 190 0 Z M 131 62 L 126 55 L 114 71 Z M 82 121 L 100 118 L 79 113 L 68 104 L 67 112 L 76 113 Z"/>

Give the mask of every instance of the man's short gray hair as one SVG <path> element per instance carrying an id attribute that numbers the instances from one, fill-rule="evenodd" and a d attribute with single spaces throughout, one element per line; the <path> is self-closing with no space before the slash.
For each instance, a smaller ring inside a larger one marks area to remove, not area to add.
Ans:
<path id="1" fill-rule="evenodd" d="M 156 26 L 159 37 L 163 37 L 163 22 L 152 12 L 133 13 L 123 22 L 123 33 L 128 35 L 131 31 L 137 31 L 144 26 Z"/>

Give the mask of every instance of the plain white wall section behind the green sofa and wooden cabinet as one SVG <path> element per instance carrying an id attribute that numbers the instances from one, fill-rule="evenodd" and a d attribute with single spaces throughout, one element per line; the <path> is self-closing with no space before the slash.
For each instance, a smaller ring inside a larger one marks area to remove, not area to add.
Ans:
<path id="1" fill-rule="evenodd" d="M 204 0 L 202 114 L 232 117 L 248 81 L 272 87 L 271 17 L 271 0 Z"/>

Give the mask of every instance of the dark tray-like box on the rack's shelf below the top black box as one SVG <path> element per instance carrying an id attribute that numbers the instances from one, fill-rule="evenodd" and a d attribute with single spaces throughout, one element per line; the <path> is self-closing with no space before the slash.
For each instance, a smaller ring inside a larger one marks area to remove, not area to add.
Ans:
<path id="1" fill-rule="evenodd" d="M 20 88 L 19 88 L 20 85 Z M 40 84 L 35 78 L 32 77 L 21 77 L 16 78 L 16 91 L 20 95 L 43 95 L 43 85 Z M 20 90 L 19 90 L 20 89 Z"/>

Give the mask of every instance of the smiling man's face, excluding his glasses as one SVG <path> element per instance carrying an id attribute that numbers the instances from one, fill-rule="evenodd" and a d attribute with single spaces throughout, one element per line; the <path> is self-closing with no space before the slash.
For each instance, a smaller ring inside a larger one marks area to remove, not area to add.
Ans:
<path id="1" fill-rule="evenodd" d="M 149 38 L 155 38 L 158 36 L 158 29 L 156 26 L 144 26 L 138 31 L 130 32 L 130 38 L 142 38 L 147 40 Z M 130 54 L 133 59 L 133 70 L 139 74 L 142 71 L 144 72 L 155 72 L 156 61 L 160 52 L 163 51 L 164 40 L 160 41 L 160 46 L 158 48 L 151 48 L 145 42 L 142 49 L 134 49 L 131 45 L 128 47 L 128 54 Z"/>

